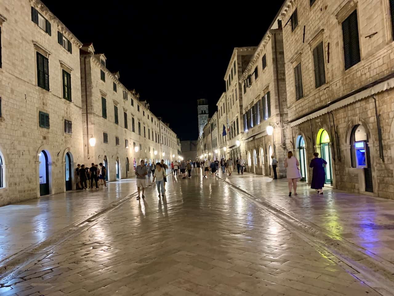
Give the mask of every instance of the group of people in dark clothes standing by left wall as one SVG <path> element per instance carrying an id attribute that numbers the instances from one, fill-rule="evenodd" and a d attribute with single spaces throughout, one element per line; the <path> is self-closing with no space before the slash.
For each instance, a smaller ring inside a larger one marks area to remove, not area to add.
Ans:
<path id="1" fill-rule="evenodd" d="M 93 190 L 93 183 L 95 184 L 96 189 L 99 189 L 99 184 L 107 187 L 106 175 L 107 170 L 102 163 L 99 163 L 98 165 L 92 163 L 91 167 L 85 167 L 85 165 L 78 164 L 75 169 L 76 189 L 85 190 L 88 188 L 88 183 L 91 190 Z"/>

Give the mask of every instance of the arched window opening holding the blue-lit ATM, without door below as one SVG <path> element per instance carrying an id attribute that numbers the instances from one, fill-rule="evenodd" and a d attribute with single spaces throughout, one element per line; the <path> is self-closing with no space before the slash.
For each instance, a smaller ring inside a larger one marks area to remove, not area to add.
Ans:
<path id="1" fill-rule="evenodd" d="M 366 142 L 368 135 L 363 126 L 354 126 L 350 135 L 351 167 L 367 167 Z"/>

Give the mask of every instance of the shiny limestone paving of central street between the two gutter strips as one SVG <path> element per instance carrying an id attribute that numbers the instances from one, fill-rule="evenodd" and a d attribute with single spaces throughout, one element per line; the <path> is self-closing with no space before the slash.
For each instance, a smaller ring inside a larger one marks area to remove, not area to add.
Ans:
<path id="1" fill-rule="evenodd" d="M 193 173 L 169 176 L 164 200 L 154 187 L 145 200 L 127 200 L 0 296 L 379 295 L 244 194 Z"/>

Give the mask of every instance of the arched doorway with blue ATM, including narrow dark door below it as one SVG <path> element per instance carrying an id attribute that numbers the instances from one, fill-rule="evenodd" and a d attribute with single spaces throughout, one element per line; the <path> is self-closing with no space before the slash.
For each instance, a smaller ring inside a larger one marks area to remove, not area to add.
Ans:
<path id="1" fill-rule="evenodd" d="M 374 192 L 368 135 L 362 125 L 354 126 L 350 135 L 351 167 L 364 170 L 365 191 Z"/>

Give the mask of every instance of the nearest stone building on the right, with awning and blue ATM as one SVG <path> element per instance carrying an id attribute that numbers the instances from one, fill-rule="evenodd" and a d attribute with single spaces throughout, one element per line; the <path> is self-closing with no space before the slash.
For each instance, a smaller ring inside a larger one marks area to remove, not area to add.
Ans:
<path id="1" fill-rule="evenodd" d="M 393 198 L 394 2 L 286 0 L 288 134 L 310 182 L 313 152 L 327 185 Z"/>

